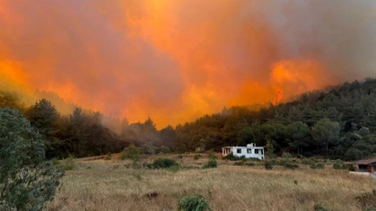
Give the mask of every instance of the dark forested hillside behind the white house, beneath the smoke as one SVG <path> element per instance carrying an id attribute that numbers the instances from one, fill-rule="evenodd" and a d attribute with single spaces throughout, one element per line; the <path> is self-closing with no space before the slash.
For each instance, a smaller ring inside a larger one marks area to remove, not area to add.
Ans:
<path id="1" fill-rule="evenodd" d="M 129 124 L 112 119 L 103 124 L 100 112 L 77 107 L 61 115 L 46 99 L 28 107 L 11 92 L 0 92 L 0 106 L 22 110 L 39 129 L 47 145 L 46 156 L 76 157 L 120 152 L 129 143 L 156 153 L 165 146 L 173 151 L 193 151 L 198 146 L 219 151 L 223 146 L 255 142 L 273 144 L 274 153 L 324 155 L 355 160 L 376 153 L 376 79 L 367 78 L 329 92 L 303 93 L 296 101 L 254 107 L 224 108 L 194 122 L 157 130 L 152 119 Z M 152 146 L 153 145 L 153 146 Z"/>

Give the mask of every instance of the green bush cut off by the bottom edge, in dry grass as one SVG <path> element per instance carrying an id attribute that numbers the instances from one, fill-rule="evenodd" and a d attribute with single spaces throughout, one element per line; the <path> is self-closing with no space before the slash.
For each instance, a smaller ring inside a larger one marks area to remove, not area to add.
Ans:
<path id="1" fill-rule="evenodd" d="M 209 200 L 202 195 L 180 197 L 177 202 L 179 211 L 211 211 Z"/>

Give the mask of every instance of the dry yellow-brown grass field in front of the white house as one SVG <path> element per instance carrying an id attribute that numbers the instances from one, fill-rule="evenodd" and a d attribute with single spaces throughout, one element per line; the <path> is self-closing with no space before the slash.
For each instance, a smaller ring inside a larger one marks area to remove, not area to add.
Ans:
<path id="1" fill-rule="evenodd" d="M 217 169 L 201 169 L 207 155 L 164 155 L 175 158 L 183 169 L 132 169 L 132 161 L 119 155 L 111 160 L 77 159 L 74 170 L 66 172 L 62 187 L 49 211 L 172 211 L 177 198 L 203 194 L 214 211 L 310 211 L 316 203 L 338 211 L 361 211 L 355 200 L 376 188 L 376 180 L 349 175 L 346 170 L 313 170 L 300 165 L 296 170 L 263 165 L 234 166 L 218 160 Z M 143 157 L 152 162 L 159 155 Z M 219 157 L 219 155 L 218 155 Z"/>

